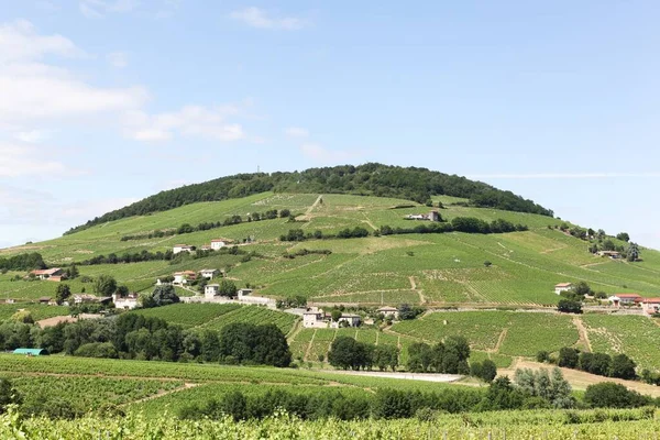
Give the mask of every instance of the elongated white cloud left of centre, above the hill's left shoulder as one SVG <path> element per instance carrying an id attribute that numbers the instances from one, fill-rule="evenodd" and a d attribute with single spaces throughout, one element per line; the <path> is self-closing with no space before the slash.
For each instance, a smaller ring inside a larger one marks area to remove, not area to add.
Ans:
<path id="1" fill-rule="evenodd" d="M 127 120 L 129 136 L 138 141 L 167 141 L 175 135 L 198 136 L 229 142 L 245 138 L 243 128 L 229 123 L 227 117 L 235 114 L 233 107 L 206 108 L 186 106 L 176 112 L 148 116 L 132 112 Z"/>

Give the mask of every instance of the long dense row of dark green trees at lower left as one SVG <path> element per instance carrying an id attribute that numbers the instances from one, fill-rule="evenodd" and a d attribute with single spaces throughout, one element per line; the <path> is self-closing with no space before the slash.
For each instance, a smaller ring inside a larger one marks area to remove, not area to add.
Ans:
<path id="1" fill-rule="evenodd" d="M 219 332 L 182 329 L 140 314 L 38 326 L 0 324 L 0 349 L 42 348 L 85 358 L 288 366 L 292 354 L 274 324 L 230 323 Z"/>

